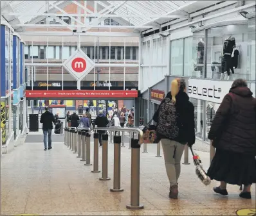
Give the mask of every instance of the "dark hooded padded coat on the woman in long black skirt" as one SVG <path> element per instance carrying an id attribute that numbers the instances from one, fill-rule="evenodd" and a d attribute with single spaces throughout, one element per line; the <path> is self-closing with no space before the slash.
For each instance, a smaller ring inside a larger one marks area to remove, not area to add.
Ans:
<path id="1" fill-rule="evenodd" d="M 214 147 L 256 155 L 256 102 L 247 87 L 230 88 L 217 110 L 208 138 Z"/>

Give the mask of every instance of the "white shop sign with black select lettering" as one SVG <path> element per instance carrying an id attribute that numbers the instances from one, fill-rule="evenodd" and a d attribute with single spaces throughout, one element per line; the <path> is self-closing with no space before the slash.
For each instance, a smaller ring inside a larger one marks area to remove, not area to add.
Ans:
<path id="1" fill-rule="evenodd" d="M 204 101 L 221 103 L 233 81 L 188 79 L 188 96 Z"/>

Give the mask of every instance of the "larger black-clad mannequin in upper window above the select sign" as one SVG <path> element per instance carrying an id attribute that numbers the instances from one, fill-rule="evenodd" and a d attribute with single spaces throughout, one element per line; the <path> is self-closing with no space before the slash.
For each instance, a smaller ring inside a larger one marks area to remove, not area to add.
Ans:
<path id="1" fill-rule="evenodd" d="M 230 70 L 232 71 L 232 74 L 234 74 L 233 71 L 233 61 L 232 61 L 232 53 L 235 53 L 235 38 L 234 37 L 228 37 L 225 39 L 223 44 L 223 59 L 221 62 L 221 79 L 224 78 L 224 72 L 226 71 L 228 74 L 228 78 L 230 79 Z"/>

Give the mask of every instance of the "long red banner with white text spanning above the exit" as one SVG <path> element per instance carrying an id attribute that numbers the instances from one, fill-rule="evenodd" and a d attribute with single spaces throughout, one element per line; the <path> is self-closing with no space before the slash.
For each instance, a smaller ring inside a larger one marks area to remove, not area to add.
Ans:
<path id="1" fill-rule="evenodd" d="M 130 98 L 137 90 L 26 90 L 27 98 Z"/>

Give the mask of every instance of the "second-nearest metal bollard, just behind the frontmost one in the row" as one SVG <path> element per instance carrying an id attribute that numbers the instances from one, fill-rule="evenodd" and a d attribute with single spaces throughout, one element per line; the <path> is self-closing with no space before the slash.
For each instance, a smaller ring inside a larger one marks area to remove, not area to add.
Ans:
<path id="1" fill-rule="evenodd" d="M 110 191 L 123 191 L 121 188 L 121 136 L 114 136 L 114 183 Z"/>

